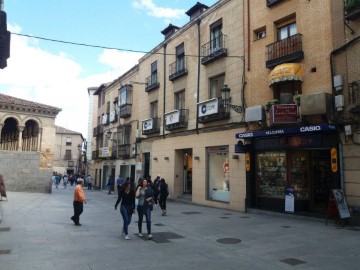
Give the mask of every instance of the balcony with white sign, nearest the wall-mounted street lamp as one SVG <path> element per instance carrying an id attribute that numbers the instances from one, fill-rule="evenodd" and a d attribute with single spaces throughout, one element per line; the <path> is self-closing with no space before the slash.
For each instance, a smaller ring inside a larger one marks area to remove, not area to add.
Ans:
<path id="1" fill-rule="evenodd" d="M 230 112 L 221 98 L 213 98 L 198 103 L 198 122 L 201 124 L 230 119 Z"/>

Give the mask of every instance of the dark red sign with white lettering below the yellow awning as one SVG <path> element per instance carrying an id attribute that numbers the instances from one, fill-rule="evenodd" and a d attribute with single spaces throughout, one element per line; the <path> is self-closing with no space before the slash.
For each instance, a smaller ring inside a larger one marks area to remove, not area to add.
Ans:
<path id="1" fill-rule="evenodd" d="M 270 123 L 289 124 L 297 122 L 297 105 L 296 104 L 276 104 L 270 110 Z"/>

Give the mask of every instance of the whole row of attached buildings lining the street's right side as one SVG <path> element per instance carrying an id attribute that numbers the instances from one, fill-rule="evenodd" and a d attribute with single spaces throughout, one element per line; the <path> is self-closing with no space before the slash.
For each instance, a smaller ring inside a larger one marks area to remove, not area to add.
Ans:
<path id="1" fill-rule="evenodd" d="M 95 91 L 99 186 L 110 175 L 160 175 L 171 196 L 198 204 L 314 214 L 341 189 L 359 207 L 360 29 L 351 8 L 196 3 L 187 24 L 169 24 L 136 67 Z"/>

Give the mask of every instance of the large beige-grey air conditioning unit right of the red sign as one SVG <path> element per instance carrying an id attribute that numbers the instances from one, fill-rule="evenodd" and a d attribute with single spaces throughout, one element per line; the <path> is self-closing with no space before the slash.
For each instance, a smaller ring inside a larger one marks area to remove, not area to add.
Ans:
<path id="1" fill-rule="evenodd" d="M 301 115 L 327 114 L 332 111 L 332 96 L 329 93 L 316 93 L 300 96 Z"/>

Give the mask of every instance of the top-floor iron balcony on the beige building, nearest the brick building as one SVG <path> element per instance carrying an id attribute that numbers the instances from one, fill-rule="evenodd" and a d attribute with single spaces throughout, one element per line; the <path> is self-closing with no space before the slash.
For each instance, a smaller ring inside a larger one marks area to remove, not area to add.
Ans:
<path id="1" fill-rule="evenodd" d="M 201 46 L 201 64 L 207 65 L 218 58 L 227 56 L 225 42 L 226 36 L 220 35 L 219 37 L 210 40 L 210 42 Z"/>

